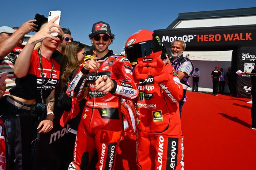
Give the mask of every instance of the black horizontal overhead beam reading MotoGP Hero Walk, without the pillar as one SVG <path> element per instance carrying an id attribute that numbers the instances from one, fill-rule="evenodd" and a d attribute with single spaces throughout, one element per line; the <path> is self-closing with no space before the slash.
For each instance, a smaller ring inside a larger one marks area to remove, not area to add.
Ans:
<path id="1" fill-rule="evenodd" d="M 256 25 L 201 27 L 189 29 L 155 30 L 166 48 L 175 39 L 187 44 L 187 51 L 230 50 L 240 46 L 255 46 Z"/>

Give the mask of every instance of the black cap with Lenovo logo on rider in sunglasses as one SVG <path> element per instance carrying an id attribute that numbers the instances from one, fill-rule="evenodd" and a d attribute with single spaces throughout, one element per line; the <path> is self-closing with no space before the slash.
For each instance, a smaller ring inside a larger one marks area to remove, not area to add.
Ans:
<path id="1" fill-rule="evenodd" d="M 93 28 L 91 29 L 91 37 L 94 37 L 99 33 L 104 33 L 109 35 L 109 37 L 112 37 L 109 24 L 103 21 L 99 21 L 93 24 Z"/>

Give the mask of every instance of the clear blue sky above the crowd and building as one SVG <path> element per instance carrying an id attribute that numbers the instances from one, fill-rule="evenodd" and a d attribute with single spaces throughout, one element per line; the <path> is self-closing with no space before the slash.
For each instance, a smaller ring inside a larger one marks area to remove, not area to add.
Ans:
<path id="1" fill-rule="evenodd" d="M 120 53 L 130 35 L 141 29 L 165 29 L 179 13 L 249 7 L 256 7 L 256 0 L 9 0 L 1 3 L 0 26 L 19 27 L 34 19 L 35 13 L 48 16 L 49 11 L 60 10 L 60 26 L 69 28 L 76 41 L 88 45 L 93 23 L 100 20 L 109 23 L 116 35 L 109 48 Z"/>

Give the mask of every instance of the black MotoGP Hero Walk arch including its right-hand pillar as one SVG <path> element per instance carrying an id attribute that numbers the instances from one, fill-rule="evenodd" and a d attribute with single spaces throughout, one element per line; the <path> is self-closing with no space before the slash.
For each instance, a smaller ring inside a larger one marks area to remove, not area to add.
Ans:
<path id="1" fill-rule="evenodd" d="M 155 30 L 167 52 L 175 39 L 186 42 L 186 51 L 233 50 L 231 61 L 231 91 L 235 97 L 250 97 L 249 75 L 238 76 L 237 70 L 250 72 L 256 59 L 256 25 L 200 27 Z"/>

